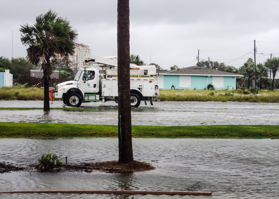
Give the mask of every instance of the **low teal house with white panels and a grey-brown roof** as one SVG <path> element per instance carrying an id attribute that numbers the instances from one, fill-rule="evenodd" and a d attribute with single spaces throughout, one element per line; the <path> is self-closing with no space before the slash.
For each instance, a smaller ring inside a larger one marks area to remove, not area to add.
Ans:
<path id="1" fill-rule="evenodd" d="M 157 71 L 159 89 L 206 89 L 211 84 L 216 90 L 235 90 L 236 78 L 243 77 L 234 73 L 191 66 L 179 70 Z"/>

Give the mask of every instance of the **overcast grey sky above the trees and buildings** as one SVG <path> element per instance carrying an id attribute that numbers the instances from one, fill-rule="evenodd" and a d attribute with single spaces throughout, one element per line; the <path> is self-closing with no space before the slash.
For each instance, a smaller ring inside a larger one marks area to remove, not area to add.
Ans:
<path id="1" fill-rule="evenodd" d="M 130 0 L 130 52 L 163 69 L 200 59 L 239 68 L 249 57 L 279 57 L 279 0 Z M 19 25 L 49 9 L 66 17 L 78 42 L 97 56 L 117 55 L 117 0 L 1 0 L 0 56 L 25 57 Z"/>

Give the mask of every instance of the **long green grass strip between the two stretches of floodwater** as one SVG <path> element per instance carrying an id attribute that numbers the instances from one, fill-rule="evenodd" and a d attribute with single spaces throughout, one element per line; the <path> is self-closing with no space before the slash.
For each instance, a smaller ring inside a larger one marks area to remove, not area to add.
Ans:
<path id="1" fill-rule="evenodd" d="M 132 126 L 134 138 L 279 138 L 279 125 Z M 0 138 L 117 138 L 117 125 L 0 122 Z"/>

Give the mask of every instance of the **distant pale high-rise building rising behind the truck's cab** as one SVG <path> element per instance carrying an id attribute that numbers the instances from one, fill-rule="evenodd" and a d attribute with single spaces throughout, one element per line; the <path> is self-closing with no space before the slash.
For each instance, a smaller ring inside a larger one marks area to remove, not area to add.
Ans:
<path id="1" fill-rule="evenodd" d="M 75 43 L 75 46 L 75 53 L 69 57 L 69 60 L 74 63 L 73 69 L 81 69 L 84 66 L 85 54 L 91 54 L 91 49 L 82 43 Z"/>

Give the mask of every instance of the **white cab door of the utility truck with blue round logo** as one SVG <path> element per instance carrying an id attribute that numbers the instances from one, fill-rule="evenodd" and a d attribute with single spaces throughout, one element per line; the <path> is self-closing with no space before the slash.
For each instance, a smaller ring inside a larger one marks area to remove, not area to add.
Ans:
<path id="1" fill-rule="evenodd" d="M 81 89 L 84 93 L 98 93 L 99 92 L 99 71 L 91 69 L 84 71 L 81 82 Z"/>

